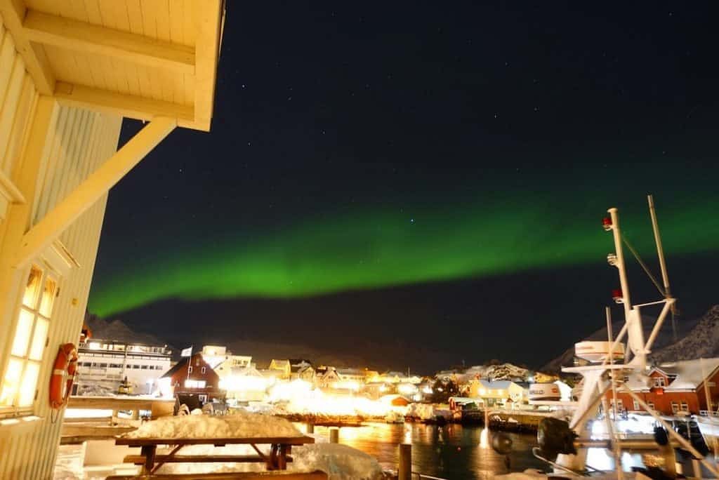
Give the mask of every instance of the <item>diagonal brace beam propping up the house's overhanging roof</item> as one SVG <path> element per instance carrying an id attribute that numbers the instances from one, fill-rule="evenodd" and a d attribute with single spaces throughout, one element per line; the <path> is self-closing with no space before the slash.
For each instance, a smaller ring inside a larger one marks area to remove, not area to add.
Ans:
<path id="1" fill-rule="evenodd" d="M 175 119 L 158 117 L 124 144 L 101 167 L 78 185 L 63 201 L 22 237 L 15 266 L 20 267 L 47 248 L 65 229 L 102 195 L 108 192 L 132 167 L 157 146 L 177 126 Z"/>

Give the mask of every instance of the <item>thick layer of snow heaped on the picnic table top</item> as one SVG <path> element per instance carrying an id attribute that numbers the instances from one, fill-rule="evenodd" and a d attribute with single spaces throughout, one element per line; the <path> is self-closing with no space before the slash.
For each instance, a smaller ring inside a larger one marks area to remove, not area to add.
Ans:
<path id="1" fill-rule="evenodd" d="M 143 423 L 125 435 L 127 438 L 236 438 L 236 437 L 301 437 L 288 420 L 258 413 L 237 412 L 236 415 L 185 415 L 160 417 Z"/>

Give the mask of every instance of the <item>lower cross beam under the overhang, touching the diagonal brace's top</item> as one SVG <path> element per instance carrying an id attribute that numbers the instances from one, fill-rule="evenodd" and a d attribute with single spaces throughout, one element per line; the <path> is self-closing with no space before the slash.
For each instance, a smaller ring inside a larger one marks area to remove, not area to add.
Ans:
<path id="1" fill-rule="evenodd" d="M 81 109 L 102 111 L 129 119 L 150 121 L 158 116 L 177 119 L 179 126 L 194 126 L 191 106 L 152 98 L 116 93 L 72 83 L 58 82 L 55 87 L 58 103 Z"/>

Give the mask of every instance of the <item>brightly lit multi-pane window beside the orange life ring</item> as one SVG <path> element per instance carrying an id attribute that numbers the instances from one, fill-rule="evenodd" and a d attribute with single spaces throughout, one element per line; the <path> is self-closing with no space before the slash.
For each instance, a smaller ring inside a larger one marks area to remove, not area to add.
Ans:
<path id="1" fill-rule="evenodd" d="M 0 412 L 31 410 L 37 395 L 40 362 L 47 343 L 58 278 L 32 265 L 16 313 L 10 356 L 0 388 Z"/>

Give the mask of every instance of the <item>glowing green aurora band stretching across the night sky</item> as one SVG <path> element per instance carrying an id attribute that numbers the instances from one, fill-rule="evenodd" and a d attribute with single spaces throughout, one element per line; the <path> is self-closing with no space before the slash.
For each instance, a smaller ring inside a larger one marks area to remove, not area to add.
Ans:
<path id="1" fill-rule="evenodd" d="M 600 224 L 612 195 L 559 204 L 555 195 L 519 196 L 414 206 L 414 216 L 394 206 L 334 213 L 262 236 L 208 234 L 192 251 L 170 246 L 152 261 L 96 280 L 89 308 L 107 316 L 165 298 L 325 295 L 603 262 L 613 251 Z M 667 197 L 658 198 L 667 255 L 717 250 L 719 196 Z M 641 194 L 631 199 L 631 208 L 620 210 L 623 232 L 653 264 L 646 201 Z"/>

